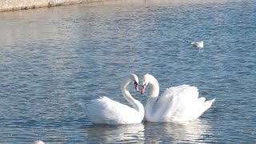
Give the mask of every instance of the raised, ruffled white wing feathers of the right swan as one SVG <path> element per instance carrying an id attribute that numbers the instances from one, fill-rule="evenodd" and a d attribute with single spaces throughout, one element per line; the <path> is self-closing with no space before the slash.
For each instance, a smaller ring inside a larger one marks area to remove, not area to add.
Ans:
<path id="1" fill-rule="evenodd" d="M 211 102 L 212 103 L 212 102 Z M 185 121 L 198 118 L 208 108 L 205 98 L 198 98 L 198 88 L 182 85 L 166 89 L 154 107 L 154 118 L 161 121 Z"/>

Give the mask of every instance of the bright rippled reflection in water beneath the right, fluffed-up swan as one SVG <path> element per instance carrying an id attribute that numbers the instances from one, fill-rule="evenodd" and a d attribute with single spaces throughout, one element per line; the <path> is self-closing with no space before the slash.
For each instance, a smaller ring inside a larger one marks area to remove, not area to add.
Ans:
<path id="1" fill-rule="evenodd" d="M 208 122 L 195 119 L 190 122 L 146 122 L 146 142 L 200 142 L 211 134 L 211 126 Z"/>

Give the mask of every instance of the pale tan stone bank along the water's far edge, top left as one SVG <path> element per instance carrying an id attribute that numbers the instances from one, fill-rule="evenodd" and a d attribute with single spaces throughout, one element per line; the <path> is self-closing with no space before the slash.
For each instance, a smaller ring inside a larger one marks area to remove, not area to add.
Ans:
<path id="1" fill-rule="evenodd" d="M 17 0 L 2 0 L 0 2 L 0 12 L 103 1 L 104 0 L 22 0 L 22 2 L 19 2 Z"/>

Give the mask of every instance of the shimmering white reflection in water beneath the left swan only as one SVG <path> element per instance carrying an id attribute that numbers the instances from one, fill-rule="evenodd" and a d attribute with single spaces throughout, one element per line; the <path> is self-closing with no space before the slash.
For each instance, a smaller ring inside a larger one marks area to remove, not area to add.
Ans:
<path id="1" fill-rule="evenodd" d="M 144 142 L 144 125 L 142 123 L 130 125 L 91 125 L 86 129 L 87 142 L 103 143 L 140 143 Z"/>

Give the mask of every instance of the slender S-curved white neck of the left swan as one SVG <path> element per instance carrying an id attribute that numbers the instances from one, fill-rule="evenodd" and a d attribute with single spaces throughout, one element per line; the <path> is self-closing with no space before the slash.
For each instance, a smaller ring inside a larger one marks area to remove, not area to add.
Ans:
<path id="1" fill-rule="evenodd" d="M 130 78 L 126 78 L 121 85 L 122 95 L 124 98 L 126 98 L 126 101 L 131 104 L 131 106 L 134 107 L 135 110 L 138 110 L 139 113 L 143 113 L 144 115 L 144 107 L 141 102 L 138 102 L 135 98 L 133 98 L 130 95 L 129 92 L 129 84 L 130 84 Z"/>

